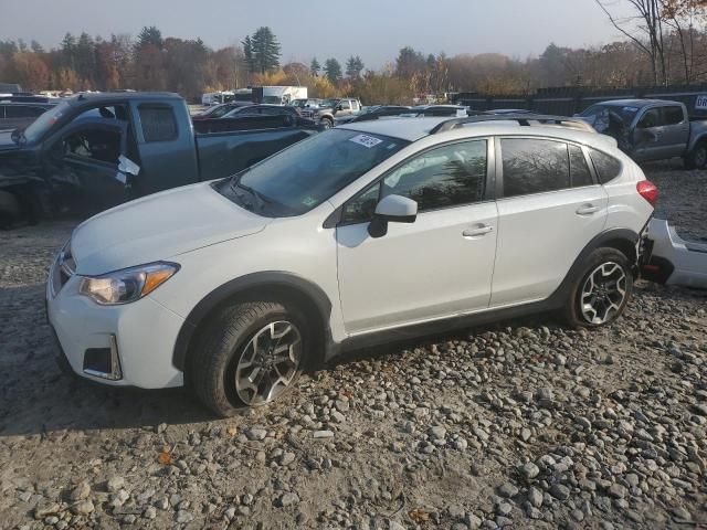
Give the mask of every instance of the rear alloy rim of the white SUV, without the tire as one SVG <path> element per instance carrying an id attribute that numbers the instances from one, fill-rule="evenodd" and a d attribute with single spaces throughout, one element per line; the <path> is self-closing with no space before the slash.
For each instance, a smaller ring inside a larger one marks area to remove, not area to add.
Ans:
<path id="1" fill-rule="evenodd" d="M 626 297 L 626 274 L 614 262 L 594 268 L 582 286 L 580 308 L 589 324 L 602 325 L 621 310 Z"/>

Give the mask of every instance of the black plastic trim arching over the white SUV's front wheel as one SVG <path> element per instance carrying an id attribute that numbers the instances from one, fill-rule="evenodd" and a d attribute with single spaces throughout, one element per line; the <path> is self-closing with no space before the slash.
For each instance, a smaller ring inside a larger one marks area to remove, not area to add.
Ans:
<path id="1" fill-rule="evenodd" d="M 199 325 L 212 310 L 240 293 L 250 292 L 258 287 L 265 292 L 266 289 L 287 288 L 291 292 L 297 293 L 299 296 L 306 297 L 316 307 L 326 330 L 329 330 L 331 301 L 320 287 L 296 274 L 283 271 L 246 274 L 215 288 L 194 306 L 177 336 L 177 342 L 175 343 L 175 351 L 172 353 L 172 364 L 175 368 L 184 371 L 191 340 Z M 327 335 L 330 337 L 330 331 L 328 331 Z M 327 342 L 330 342 L 328 337 Z"/>

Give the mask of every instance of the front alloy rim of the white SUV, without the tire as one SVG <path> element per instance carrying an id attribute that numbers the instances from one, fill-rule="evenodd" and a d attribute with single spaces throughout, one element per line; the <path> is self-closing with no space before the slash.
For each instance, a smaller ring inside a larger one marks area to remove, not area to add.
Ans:
<path id="1" fill-rule="evenodd" d="M 262 405 L 279 396 L 302 363 L 302 335 L 287 321 L 270 322 L 245 344 L 235 367 L 235 391 L 246 405 Z"/>

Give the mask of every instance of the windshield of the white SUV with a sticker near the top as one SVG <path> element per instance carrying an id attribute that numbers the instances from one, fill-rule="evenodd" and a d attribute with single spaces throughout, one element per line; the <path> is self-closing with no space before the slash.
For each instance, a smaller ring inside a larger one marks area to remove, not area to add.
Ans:
<path id="1" fill-rule="evenodd" d="M 217 189 L 263 215 L 300 215 L 408 144 L 407 140 L 382 135 L 331 129 L 299 141 L 222 181 Z M 245 199 L 244 192 L 254 200 Z"/>

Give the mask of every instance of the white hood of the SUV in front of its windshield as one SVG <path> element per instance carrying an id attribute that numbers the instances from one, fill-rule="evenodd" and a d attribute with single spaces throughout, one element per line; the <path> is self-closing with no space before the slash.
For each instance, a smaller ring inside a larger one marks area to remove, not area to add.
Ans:
<path id="1" fill-rule="evenodd" d="M 107 210 L 72 235 L 76 273 L 101 275 L 262 231 L 268 222 L 208 182 L 176 188 Z"/>

